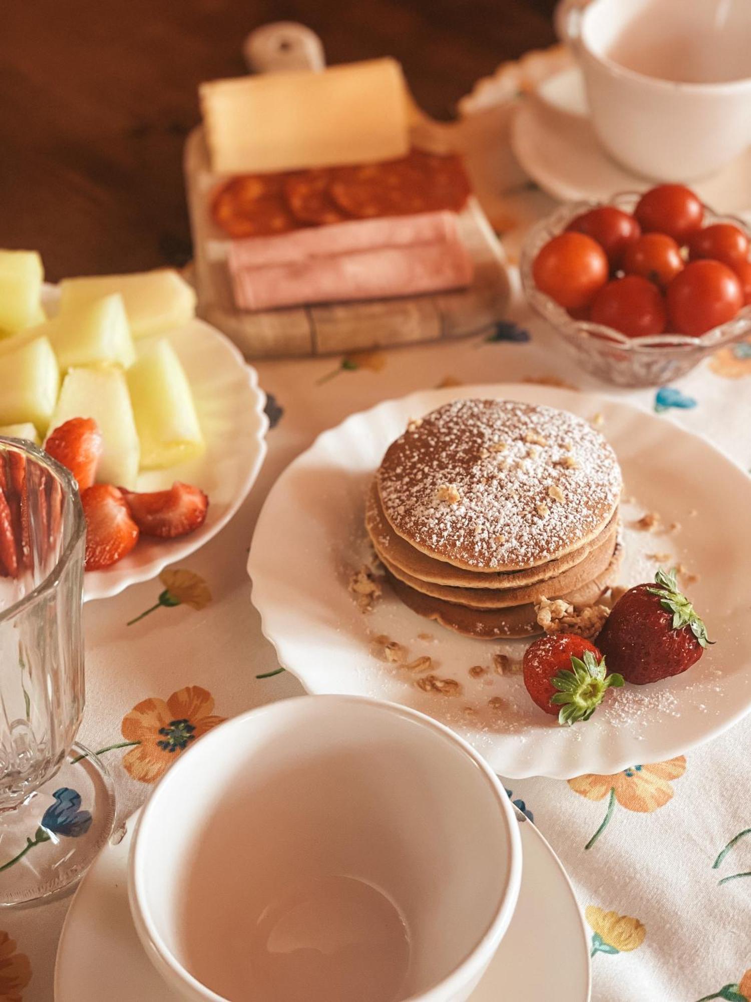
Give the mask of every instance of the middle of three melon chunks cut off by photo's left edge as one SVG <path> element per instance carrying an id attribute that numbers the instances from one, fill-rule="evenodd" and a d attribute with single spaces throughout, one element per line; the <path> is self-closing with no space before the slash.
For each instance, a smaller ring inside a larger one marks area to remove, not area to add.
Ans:
<path id="1" fill-rule="evenodd" d="M 55 409 L 60 371 L 46 338 L 0 355 L 0 423 L 29 421 L 44 434 Z"/>

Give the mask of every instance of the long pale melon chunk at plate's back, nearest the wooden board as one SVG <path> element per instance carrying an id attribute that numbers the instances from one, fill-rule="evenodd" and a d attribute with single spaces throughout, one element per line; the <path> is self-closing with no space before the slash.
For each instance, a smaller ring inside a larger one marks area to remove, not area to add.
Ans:
<path id="1" fill-rule="evenodd" d="M 170 269 L 65 279 L 60 283 L 60 313 L 112 293 L 122 296 L 134 338 L 181 327 L 195 316 L 195 293 Z"/>

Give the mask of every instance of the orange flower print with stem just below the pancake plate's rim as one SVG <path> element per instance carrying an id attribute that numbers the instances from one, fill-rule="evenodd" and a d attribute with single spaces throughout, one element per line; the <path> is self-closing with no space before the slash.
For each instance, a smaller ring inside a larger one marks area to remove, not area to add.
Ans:
<path id="1" fill-rule="evenodd" d="M 589 801 L 602 801 L 608 797 L 608 810 L 600 828 L 584 847 L 592 849 L 610 824 L 616 803 L 627 811 L 651 814 L 664 807 L 673 797 L 671 782 L 686 772 L 686 759 L 679 756 L 667 762 L 652 763 L 648 766 L 632 766 L 613 776 L 587 774 L 569 780 L 569 786 L 576 794 Z"/>

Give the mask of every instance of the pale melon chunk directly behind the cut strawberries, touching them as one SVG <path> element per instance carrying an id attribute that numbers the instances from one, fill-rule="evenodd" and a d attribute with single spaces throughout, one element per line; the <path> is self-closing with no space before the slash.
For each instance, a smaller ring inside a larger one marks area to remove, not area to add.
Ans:
<path id="1" fill-rule="evenodd" d="M 122 369 L 69 369 L 50 432 L 71 418 L 93 418 L 102 433 L 104 448 L 96 479 L 132 490 L 138 476 L 138 436 Z"/>

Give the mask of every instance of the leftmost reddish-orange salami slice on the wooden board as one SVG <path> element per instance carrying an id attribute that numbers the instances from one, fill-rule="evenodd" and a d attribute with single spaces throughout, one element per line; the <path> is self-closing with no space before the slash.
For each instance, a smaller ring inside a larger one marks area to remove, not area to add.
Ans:
<path id="1" fill-rule="evenodd" d="M 283 194 L 283 174 L 233 177 L 215 193 L 211 214 L 229 236 L 270 236 L 298 223 Z"/>

